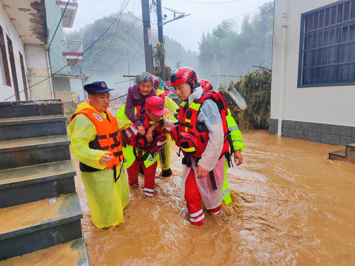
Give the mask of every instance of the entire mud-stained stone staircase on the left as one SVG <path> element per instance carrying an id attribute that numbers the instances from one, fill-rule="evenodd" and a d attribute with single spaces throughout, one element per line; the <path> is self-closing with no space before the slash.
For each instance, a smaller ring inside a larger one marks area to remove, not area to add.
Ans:
<path id="1" fill-rule="evenodd" d="M 0 102 L 0 265 L 88 265 L 60 100 Z"/>

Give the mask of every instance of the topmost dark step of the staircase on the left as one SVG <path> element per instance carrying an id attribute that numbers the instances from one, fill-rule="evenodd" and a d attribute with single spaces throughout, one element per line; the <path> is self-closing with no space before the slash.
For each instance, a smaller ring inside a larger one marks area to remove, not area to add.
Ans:
<path id="1" fill-rule="evenodd" d="M 0 102 L 0 119 L 27 116 L 64 115 L 60 100 Z"/>

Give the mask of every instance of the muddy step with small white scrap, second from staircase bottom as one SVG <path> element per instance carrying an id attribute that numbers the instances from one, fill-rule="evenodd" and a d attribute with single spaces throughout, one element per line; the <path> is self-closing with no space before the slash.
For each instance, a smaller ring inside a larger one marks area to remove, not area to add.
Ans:
<path id="1" fill-rule="evenodd" d="M 78 195 L 0 209 L 0 260 L 82 237 Z"/>

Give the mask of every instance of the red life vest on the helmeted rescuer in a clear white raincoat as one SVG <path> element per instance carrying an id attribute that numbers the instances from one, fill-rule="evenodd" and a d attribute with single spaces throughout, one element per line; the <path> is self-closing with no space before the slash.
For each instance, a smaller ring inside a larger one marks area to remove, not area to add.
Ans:
<path id="1" fill-rule="evenodd" d="M 222 93 L 212 90 L 202 93 L 201 98 L 195 99 L 189 106 L 185 106 L 186 102 L 183 102 L 180 105 L 178 136 L 180 142 L 179 144 L 185 157 L 188 155 L 190 157 L 201 158 L 203 152 L 206 150 L 207 142 L 209 140 L 209 131 L 203 122 L 197 121 L 197 117 L 200 112 L 201 105 L 207 99 L 211 99 L 217 104 L 222 118 L 224 144 L 219 158 L 222 158 L 223 155 L 229 153 L 230 142 L 228 138 L 229 131 L 226 120 L 226 116 L 228 115 L 228 107 Z M 186 133 L 190 133 L 193 138 L 190 137 L 191 135 Z"/>

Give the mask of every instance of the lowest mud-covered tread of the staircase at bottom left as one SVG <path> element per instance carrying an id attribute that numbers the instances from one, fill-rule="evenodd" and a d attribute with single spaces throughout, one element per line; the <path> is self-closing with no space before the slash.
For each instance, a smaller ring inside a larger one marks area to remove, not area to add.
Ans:
<path id="1" fill-rule="evenodd" d="M 41 249 L 29 254 L 0 261 L 0 266 L 71 265 L 88 266 L 84 239 L 75 239 L 65 244 Z"/>

